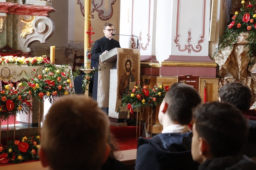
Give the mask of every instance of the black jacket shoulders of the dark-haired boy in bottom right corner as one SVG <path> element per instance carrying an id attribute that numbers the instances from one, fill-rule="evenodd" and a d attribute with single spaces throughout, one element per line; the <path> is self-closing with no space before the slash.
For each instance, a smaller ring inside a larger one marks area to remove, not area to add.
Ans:
<path id="1" fill-rule="evenodd" d="M 221 157 L 205 160 L 198 170 L 255 170 L 256 163 L 246 156 Z"/>

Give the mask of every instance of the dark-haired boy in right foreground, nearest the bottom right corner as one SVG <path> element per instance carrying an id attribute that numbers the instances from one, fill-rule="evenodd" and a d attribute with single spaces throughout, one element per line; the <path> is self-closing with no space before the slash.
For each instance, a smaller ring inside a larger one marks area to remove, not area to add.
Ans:
<path id="1" fill-rule="evenodd" d="M 247 121 L 234 105 L 211 102 L 194 114 L 192 157 L 199 170 L 254 170 L 256 163 L 242 150 L 248 135 Z"/>

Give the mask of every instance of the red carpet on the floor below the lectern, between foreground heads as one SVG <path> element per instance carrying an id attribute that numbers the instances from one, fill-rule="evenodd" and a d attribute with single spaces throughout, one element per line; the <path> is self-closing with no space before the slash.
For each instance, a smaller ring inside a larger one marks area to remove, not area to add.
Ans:
<path id="1" fill-rule="evenodd" d="M 123 127 L 115 127 L 110 126 L 110 130 L 114 137 L 117 139 L 119 144 L 119 150 L 130 150 L 137 149 L 138 140 L 136 139 L 136 126 L 123 126 Z M 141 131 L 141 136 L 143 135 L 142 126 L 139 128 L 138 126 L 138 137 L 139 130 Z"/>

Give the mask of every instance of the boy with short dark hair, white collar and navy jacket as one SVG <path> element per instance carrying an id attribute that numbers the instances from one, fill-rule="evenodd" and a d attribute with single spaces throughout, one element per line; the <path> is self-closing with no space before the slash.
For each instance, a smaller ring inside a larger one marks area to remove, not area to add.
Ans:
<path id="1" fill-rule="evenodd" d="M 160 108 L 161 134 L 151 139 L 139 138 L 136 170 L 197 169 L 192 160 L 192 133 L 187 126 L 193 109 L 201 103 L 198 92 L 187 84 L 174 83 Z"/>

